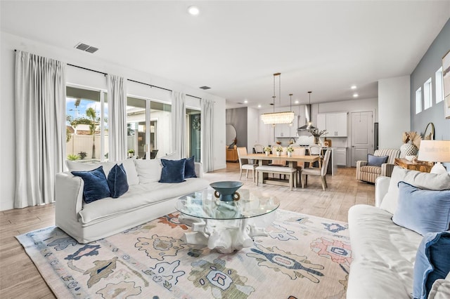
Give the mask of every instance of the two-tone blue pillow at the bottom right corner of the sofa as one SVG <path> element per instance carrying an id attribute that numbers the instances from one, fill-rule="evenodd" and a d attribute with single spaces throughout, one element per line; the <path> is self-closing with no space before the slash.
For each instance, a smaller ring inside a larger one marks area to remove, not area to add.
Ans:
<path id="1" fill-rule="evenodd" d="M 425 234 L 414 263 L 413 298 L 428 298 L 436 279 L 450 272 L 450 232 Z"/>

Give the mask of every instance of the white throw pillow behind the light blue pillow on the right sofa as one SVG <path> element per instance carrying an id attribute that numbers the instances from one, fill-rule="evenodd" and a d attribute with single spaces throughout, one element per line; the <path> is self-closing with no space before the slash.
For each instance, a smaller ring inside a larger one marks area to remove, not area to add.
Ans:
<path id="1" fill-rule="evenodd" d="M 450 175 L 448 173 L 423 173 L 420 171 L 409 171 L 399 166 L 394 167 L 392 171 L 389 189 L 380 208 L 394 214 L 397 210 L 397 202 L 399 200 L 400 181 L 407 182 L 415 187 L 426 190 L 449 190 L 450 189 Z"/>

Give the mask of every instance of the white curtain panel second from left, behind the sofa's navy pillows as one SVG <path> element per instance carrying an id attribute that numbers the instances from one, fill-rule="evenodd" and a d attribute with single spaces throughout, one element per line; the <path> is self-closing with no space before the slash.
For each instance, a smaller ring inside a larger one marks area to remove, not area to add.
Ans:
<path id="1" fill-rule="evenodd" d="M 108 74 L 109 161 L 127 158 L 127 96 L 124 79 Z"/>

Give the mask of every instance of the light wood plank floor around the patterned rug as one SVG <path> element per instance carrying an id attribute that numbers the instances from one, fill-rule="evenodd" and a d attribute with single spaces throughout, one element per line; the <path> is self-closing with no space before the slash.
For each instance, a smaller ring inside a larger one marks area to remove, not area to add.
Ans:
<path id="1" fill-rule="evenodd" d="M 308 185 L 289 191 L 288 187 L 259 185 L 243 175 L 243 188 L 271 192 L 281 200 L 280 208 L 347 222 L 347 211 L 354 204 L 375 203 L 373 185 L 355 179 L 355 168 L 338 168 L 327 175 L 328 189 L 322 190 L 320 178 L 310 176 Z M 239 180 L 239 164 L 205 174 L 204 178 Z M 0 212 L 0 298 L 55 298 L 44 279 L 14 236 L 55 225 L 53 204 Z"/>

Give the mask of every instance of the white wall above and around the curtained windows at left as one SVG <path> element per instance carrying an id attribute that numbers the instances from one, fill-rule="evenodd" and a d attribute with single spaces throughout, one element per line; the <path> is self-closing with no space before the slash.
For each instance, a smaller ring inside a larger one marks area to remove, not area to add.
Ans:
<path id="1" fill-rule="evenodd" d="M 37 55 L 42 55 L 47 58 L 53 58 L 72 65 L 86 67 L 89 69 L 96 69 L 100 72 L 108 74 L 116 74 L 127 79 L 161 86 L 174 91 L 181 91 L 200 98 L 207 98 L 214 100 L 214 169 L 225 168 L 225 99 L 219 98 L 215 95 L 210 95 L 204 91 L 189 86 L 178 84 L 169 79 L 163 79 L 151 74 L 149 72 L 139 72 L 134 69 L 129 69 L 112 62 L 104 61 L 96 58 L 95 54 L 84 53 L 74 48 L 65 49 L 42 44 L 39 41 L 32 41 L 20 36 L 0 32 L 1 41 L 1 111 L 0 111 L 0 127 L 2 130 L 2 146 L 0 152 L 0 167 L 2 169 L 2 178 L 0 180 L 0 211 L 13 208 L 13 198 L 15 194 L 15 104 L 14 104 L 14 65 L 15 53 L 14 50 L 27 51 Z M 117 58 L 120 62 L 120 58 Z M 68 66 L 66 80 L 71 84 L 79 86 L 87 86 L 93 88 L 106 89 L 106 80 L 102 74 L 89 72 L 83 69 Z M 158 100 L 170 101 L 169 93 L 161 91 L 158 88 L 149 88 L 142 84 L 135 84 L 127 82 L 127 88 L 130 94 L 142 95 L 146 98 L 154 98 Z M 143 94 L 145 93 L 145 95 Z M 190 98 L 190 97 L 187 97 Z M 200 107 L 200 101 L 190 100 L 189 105 L 196 105 Z"/>

